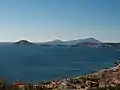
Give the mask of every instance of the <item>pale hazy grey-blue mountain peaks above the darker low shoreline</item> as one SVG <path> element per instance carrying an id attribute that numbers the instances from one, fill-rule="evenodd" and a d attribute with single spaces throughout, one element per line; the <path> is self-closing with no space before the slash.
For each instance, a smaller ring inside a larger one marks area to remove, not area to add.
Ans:
<path id="1" fill-rule="evenodd" d="M 43 45 L 57 45 L 57 46 L 58 45 L 78 45 L 80 43 L 100 44 L 101 42 L 94 38 L 77 39 L 77 40 L 70 40 L 70 41 L 61 41 L 61 40 L 55 39 L 53 41 L 45 42 L 43 43 Z"/>

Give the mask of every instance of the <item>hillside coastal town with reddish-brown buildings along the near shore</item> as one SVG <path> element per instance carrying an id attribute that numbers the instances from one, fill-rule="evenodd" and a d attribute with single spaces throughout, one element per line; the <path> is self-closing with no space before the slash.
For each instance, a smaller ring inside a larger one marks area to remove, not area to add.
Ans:
<path id="1" fill-rule="evenodd" d="M 62 80 L 38 83 L 16 80 L 12 85 L 0 82 L 0 90 L 120 90 L 120 63 L 115 63 L 115 66 L 109 69 Z"/>

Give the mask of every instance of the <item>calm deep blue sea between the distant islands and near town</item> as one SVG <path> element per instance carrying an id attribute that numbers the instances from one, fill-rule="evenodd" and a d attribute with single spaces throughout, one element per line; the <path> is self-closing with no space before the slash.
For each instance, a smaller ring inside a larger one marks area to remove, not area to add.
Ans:
<path id="1" fill-rule="evenodd" d="M 0 44 L 0 77 L 37 82 L 109 68 L 117 60 L 120 51 L 110 48 Z"/>

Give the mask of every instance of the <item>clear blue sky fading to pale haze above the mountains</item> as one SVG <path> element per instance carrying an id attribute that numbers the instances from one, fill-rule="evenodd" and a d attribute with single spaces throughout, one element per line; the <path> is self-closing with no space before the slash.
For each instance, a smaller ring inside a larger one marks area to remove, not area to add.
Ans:
<path id="1" fill-rule="evenodd" d="M 0 42 L 89 37 L 120 42 L 120 0 L 0 0 Z"/>

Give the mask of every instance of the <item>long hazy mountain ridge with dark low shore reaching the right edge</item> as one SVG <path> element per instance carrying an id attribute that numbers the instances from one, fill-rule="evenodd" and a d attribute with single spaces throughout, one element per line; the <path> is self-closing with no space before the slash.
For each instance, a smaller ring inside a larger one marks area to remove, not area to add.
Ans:
<path id="1" fill-rule="evenodd" d="M 104 43 L 95 38 L 77 39 L 62 41 L 55 39 L 53 41 L 42 43 L 44 46 L 88 46 L 88 47 L 101 47 L 101 48 L 120 48 L 120 43 Z"/>

